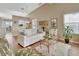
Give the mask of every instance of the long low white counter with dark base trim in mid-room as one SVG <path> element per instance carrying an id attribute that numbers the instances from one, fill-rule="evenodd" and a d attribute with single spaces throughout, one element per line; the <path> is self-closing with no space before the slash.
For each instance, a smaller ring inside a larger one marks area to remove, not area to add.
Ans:
<path id="1" fill-rule="evenodd" d="M 26 46 L 29 46 L 33 43 L 40 41 L 40 40 L 43 40 L 44 35 L 45 35 L 45 32 L 36 33 L 36 34 L 33 34 L 33 35 L 26 35 L 26 36 L 22 35 L 22 36 L 19 36 L 18 43 L 20 45 L 22 45 L 23 47 L 26 47 Z"/>

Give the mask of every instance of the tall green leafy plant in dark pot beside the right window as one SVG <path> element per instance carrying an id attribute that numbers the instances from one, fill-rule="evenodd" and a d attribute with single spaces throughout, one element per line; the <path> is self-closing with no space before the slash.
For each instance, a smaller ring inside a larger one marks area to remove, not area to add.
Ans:
<path id="1" fill-rule="evenodd" d="M 66 26 L 65 25 L 65 28 L 64 28 L 64 38 L 65 38 L 65 43 L 69 43 L 70 39 L 72 38 L 72 28 L 71 26 Z"/>

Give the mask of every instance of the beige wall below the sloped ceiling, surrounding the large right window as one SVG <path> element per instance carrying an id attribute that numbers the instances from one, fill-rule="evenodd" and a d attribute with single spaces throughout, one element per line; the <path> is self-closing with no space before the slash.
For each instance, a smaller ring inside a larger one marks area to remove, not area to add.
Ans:
<path id="1" fill-rule="evenodd" d="M 55 16 L 57 18 L 57 28 L 58 28 L 58 38 L 63 38 L 63 22 L 64 14 L 71 12 L 79 12 L 78 3 L 52 3 L 45 4 L 38 8 L 34 12 L 30 13 L 28 16 L 33 18 L 40 18 L 49 20 L 51 17 Z M 73 40 L 79 41 L 79 35 L 73 35 Z"/>

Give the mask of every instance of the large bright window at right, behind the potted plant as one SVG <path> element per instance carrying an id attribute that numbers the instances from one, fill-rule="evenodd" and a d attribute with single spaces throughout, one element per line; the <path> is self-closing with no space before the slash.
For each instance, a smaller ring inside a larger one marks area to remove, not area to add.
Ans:
<path id="1" fill-rule="evenodd" d="M 73 34 L 79 34 L 79 12 L 64 15 L 64 25 L 71 26 Z"/>

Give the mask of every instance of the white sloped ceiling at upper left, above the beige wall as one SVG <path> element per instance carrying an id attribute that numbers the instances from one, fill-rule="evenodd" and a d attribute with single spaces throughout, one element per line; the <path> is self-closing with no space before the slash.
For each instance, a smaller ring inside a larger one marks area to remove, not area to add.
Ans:
<path id="1" fill-rule="evenodd" d="M 0 3 L 0 17 L 12 19 L 12 15 L 26 16 L 42 3 Z"/>

